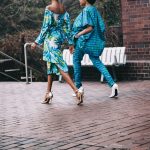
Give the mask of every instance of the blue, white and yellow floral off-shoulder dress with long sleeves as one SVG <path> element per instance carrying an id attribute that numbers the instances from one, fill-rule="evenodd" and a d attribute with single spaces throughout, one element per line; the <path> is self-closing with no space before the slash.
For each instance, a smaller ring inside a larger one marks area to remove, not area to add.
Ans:
<path id="1" fill-rule="evenodd" d="M 35 43 L 39 45 L 44 43 L 43 60 L 47 62 L 47 74 L 59 75 L 59 69 L 68 72 L 61 53 L 61 45 L 65 40 L 70 45 L 73 44 L 70 30 L 70 16 L 67 12 L 55 14 L 48 8 L 45 9 L 41 32 Z"/>

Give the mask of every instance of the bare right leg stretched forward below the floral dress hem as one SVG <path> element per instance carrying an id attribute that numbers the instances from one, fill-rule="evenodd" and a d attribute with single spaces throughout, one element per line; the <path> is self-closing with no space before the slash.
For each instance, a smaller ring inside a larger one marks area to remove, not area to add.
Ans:
<path id="1" fill-rule="evenodd" d="M 77 92 L 77 87 L 74 85 L 72 79 L 70 78 L 69 74 L 62 71 L 61 69 L 59 69 L 61 75 L 63 76 L 63 78 L 66 80 L 66 82 L 71 86 L 71 88 L 73 89 L 74 92 Z"/>

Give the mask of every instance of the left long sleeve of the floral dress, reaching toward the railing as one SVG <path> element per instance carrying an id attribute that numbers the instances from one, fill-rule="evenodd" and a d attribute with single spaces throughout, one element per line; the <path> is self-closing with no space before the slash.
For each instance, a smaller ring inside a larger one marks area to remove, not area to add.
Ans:
<path id="1" fill-rule="evenodd" d="M 35 42 L 37 44 L 39 44 L 39 45 L 43 44 L 45 37 L 47 35 L 47 30 L 51 26 L 51 23 L 52 23 L 52 15 L 51 15 L 51 12 L 49 10 L 47 10 L 47 8 L 46 8 L 45 14 L 44 14 L 43 25 L 42 25 L 40 34 L 38 35 L 37 39 L 35 40 Z"/>

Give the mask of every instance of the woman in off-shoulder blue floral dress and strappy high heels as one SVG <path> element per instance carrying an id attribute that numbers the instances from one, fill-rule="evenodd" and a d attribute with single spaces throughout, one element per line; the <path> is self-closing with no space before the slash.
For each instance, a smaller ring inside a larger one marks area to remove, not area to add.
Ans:
<path id="1" fill-rule="evenodd" d="M 83 102 L 82 91 L 74 85 L 68 74 L 68 67 L 63 60 L 61 53 L 61 45 L 68 40 L 70 45 L 73 44 L 71 40 L 70 17 L 65 11 L 62 3 L 58 0 L 51 0 L 51 5 L 45 9 L 44 21 L 41 32 L 35 42 L 31 45 L 35 49 L 36 45 L 44 43 L 43 60 L 47 62 L 48 86 L 47 92 L 42 103 L 47 104 L 51 102 L 53 94 L 52 89 L 52 75 L 61 73 L 66 82 L 71 86 L 77 97 L 77 104 Z"/>

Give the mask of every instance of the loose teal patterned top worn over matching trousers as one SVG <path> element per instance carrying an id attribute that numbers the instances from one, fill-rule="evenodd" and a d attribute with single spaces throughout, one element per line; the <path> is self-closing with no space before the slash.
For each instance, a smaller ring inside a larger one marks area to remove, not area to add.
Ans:
<path id="1" fill-rule="evenodd" d="M 86 6 L 79 16 L 75 19 L 72 34 L 75 36 L 78 32 L 84 30 L 87 26 L 93 26 L 94 30 L 78 38 L 79 48 L 86 47 L 86 53 L 92 56 L 100 56 L 105 47 L 105 24 L 94 6 Z"/>

